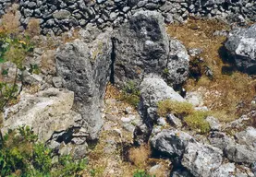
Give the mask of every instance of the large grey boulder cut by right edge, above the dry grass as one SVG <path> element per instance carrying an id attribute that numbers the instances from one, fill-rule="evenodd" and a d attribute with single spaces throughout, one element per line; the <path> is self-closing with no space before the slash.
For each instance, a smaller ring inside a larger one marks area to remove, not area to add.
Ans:
<path id="1" fill-rule="evenodd" d="M 256 74 L 256 24 L 246 29 L 232 30 L 225 47 L 238 69 Z"/>

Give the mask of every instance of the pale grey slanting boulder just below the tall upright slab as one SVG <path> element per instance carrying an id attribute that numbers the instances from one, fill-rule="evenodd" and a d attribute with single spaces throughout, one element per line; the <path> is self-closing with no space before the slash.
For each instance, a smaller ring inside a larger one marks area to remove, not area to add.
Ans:
<path id="1" fill-rule="evenodd" d="M 185 101 L 162 78 L 146 77 L 140 84 L 140 114 L 151 122 L 158 118 L 157 103 L 161 100 Z"/>

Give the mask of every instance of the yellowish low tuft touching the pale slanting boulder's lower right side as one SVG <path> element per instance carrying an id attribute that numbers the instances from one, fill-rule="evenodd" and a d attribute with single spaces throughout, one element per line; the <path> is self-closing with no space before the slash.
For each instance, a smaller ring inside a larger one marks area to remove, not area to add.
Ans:
<path id="1" fill-rule="evenodd" d="M 193 106 L 189 102 L 180 102 L 176 100 L 163 100 L 157 104 L 157 113 L 159 116 L 165 117 L 167 113 L 177 115 L 188 115 L 193 112 Z"/>

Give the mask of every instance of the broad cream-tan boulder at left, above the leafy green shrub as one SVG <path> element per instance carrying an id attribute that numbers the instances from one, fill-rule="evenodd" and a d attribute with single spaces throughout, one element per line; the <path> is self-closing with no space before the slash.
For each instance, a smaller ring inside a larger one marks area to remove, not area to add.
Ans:
<path id="1" fill-rule="evenodd" d="M 66 89 L 47 89 L 36 95 L 22 94 L 18 104 L 6 109 L 3 133 L 21 125 L 29 125 L 46 142 L 55 132 L 78 127 L 81 116 L 71 110 L 74 93 Z"/>

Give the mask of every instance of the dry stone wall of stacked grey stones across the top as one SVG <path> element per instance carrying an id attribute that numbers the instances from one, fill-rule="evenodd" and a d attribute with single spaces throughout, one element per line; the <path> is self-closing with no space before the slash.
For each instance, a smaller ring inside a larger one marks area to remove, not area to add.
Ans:
<path id="1" fill-rule="evenodd" d="M 0 0 L 0 15 L 11 0 Z M 20 0 L 21 23 L 39 18 L 43 33 L 60 34 L 92 23 L 103 29 L 118 27 L 136 11 L 156 10 L 166 23 L 182 22 L 189 15 L 224 18 L 229 22 L 256 21 L 254 0 Z"/>

